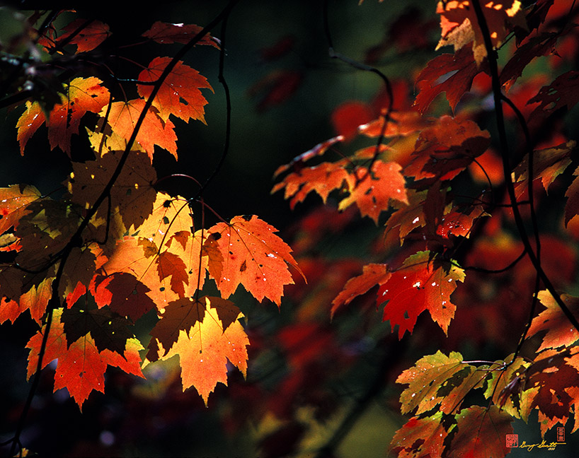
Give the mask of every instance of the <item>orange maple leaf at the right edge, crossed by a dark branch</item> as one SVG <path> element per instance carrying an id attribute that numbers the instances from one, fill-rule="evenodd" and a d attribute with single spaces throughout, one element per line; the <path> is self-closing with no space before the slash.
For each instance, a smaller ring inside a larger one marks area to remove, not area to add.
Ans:
<path id="1" fill-rule="evenodd" d="M 537 317 L 534 317 L 528 331 L 528 337 L 532 337 L 541 331 L 546 331 L 537 351 L 561 346 L 568 347 L 579 340 L 579 331 L 569 323 L 569 319 L 561 311 L 561 307 L 558 306 L 551 293 L 547 290 L 542 290 L 539 291 L 537 297 L 541 301 L 541 304 L 546 307 L 546 310 L 541 312 Z M 579 298 L 563 294 L 561 295 L 561 299 L 566 303 L 571 313 L 578 316 Z"/>

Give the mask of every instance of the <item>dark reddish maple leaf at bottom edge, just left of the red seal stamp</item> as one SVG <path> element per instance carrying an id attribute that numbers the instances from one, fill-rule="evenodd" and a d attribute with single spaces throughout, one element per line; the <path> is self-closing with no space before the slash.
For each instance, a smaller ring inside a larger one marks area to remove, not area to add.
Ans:
<path id="1" fill-rule="evenodd" d="M 449 430 L 449 435 L 455 433 L 449 456 L 503 458 L 510 452 L 505 436 L 513 432 L 512 416 L 497 406 L 472 406 L 460 411 L 456 419 L 456 425 Z"/>

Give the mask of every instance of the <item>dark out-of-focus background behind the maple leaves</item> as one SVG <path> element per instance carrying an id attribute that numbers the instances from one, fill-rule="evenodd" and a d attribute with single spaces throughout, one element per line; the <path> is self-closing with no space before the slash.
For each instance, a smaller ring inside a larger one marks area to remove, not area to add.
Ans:
<path id="1" fill-rule="evenodd" d="M 67 7 L 43 3 L 42 8 Z M 156 20 L 205 25 L 224 4 L 164 1 L 150 7 L 134 1 L 99 2 L 77 11 L 81 17 L 94 16 L 110 25 L 113 35 L 105 42 L 107 49 L 147 65 L 156 56 L 171 56 L 178 45 L 117 46 L 138 41 Z M 360 300 L 357 307 L 330 322 L 331 300 L 372 259 L 381 229 L 368 218 L 361 221 L 355 211 L 324 213 L 313 196 L 291 211 L 282 193 L 270 195 L 272 175 L 279 165 L 335 135 L 331 113 L 336 107 L 348 100 L 371 102 L 383 90 L 375 74 L 328 56 L 323 4 L 241 0 L 234 8 L 227 28 L 224 73 L 232 100 L 231 147 L 204 194 L 205 201 L 227 220 L 255 213 L 279 228 L 302 257 L 298 261 L 309 286 L 296 280 L 279 311 L 273 303 L 256 304 L 238 291 L 234 302 L 247 317 L 251 341 L 248 377 L 243 380 L 232 371 L 229 387 L 219 385 L 208 408 L 195 390 L 181 392 L 176 361 L 150 365 L 147 381 L 110 369 L 106 394 L 91 394 L 82 413 L 65 390 L 52 393 L 54 367 L 47 368 L 21 438 L 30 450 L 62 457 L 386 454 L 394 431 L 404 421 L 398 413 L 401 387 L 394 384 L 396 376 L 420 356 L 450 344 L 425 319 L 419 320 L 420 329 L 411 338 L 399 341 L 381 322 L 372 298 Z M 18 17 L 11 6 L 0 8 L 0 14 L 2 42 L 18 33 Z M 355 0 L 328 1 L 327 18 L 337 52 L 367 61 L 391 81 L 401 81 L 395 86 L 399 91 L 395 100 L 412 100 L 418 71 L 440 54 L 433 51 L 439 35 L 434 1 L 366 0 L 362 5 Z M 58 20 L 66 23 L 66 14 Z M 218 38 L 219 33 L 219 27 L 212 30 Z M 226 113 L 218 62 L 219 52 L 210 47 L 195 47 L 185 58 L 186 64 L 208 78 L 214 93 L 204 93 L 209 102 L 206 126 L 176 122 L 180 162 L 164 151 L 156 153 L 154 165 L 160 177 L 184 173 L 203 182 L 219 162 Z M 532 71 L 543 71 L 540 65 Z M 121 78 L 136 78 L 140 71 L 122 59 L 113 70 Z M 448 112 L 447 102 L 438 98 L 432 111 Z M 30 183 L 51 192 L 70 172 L 69 160 L 61 151 L 50 151 L 40 132 L 21 157 L 15 128 L 21 112 L 21 107 L 2 112 L 0 184 Z M 576 119 L 575 110 L 568 122 Z M 79 157 L 88 148 L 84 141 L 82 136 L 73 137 Z M 166 181 L 164 189 L 183 196 L 196 191 L 192 182 L 179 179 Z M 207 225 L 213 218 L 207 213 Z M 322 234 L 323 239 L 316 238 Z M 313 259 L 323 259 L 325 264 Z M 33 332 L 33 324 L 22 318 L 14 325 L 0 326 L 0 442 L 13 433 L 28 394 L 24 346 Z M 459 350 L 465 358 L 492 360 L 504 356 L 504 348 L 514 348 L 518 336 L 517 331 L 512 339 L 481 343 L 463 334 Z M 539 442 L 536 418 L 515 428 L 527 442 Z M 571 449 L 549 456 L 567 456 Z"/>

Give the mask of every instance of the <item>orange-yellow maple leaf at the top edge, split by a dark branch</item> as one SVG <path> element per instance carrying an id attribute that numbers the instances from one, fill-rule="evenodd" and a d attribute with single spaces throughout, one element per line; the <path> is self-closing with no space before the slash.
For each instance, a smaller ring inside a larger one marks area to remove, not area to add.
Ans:
<path id="1" fill-rule="evenodd" d="M 481 8 L 491 33 L 491 43 L 494 49 L 503 44 L 515 27 L 527 29 L 519 0 L 492 0 L 481 5 Z M 442 29 L 442 37 L 436 49 L 454 45 L 456 52 L 464 45 L 473 42 L 474 60 L 477 65 L 480 65 L 486 57 L 486 47 L 471 0 L 439 1 L 436 12 L 440 14 L 440 28 Z"/>

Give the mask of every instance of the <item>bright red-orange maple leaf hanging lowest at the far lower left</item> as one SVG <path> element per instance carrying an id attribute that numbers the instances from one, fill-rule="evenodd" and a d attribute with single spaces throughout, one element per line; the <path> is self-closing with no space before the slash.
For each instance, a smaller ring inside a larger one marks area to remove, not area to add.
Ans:
<path id="1" fill-rule="evenodd" d="M 93 390 L 104 392 L 104 373 L 108 365 L 120 366 L 125 372 L 143 377 L 138 353 L 143 348 L 137 339 L 131 338 L 125 342 L 122 355 L 106 349 L 99 352 L 90 333 L 80 336 L 69 344 L 64 332 L 64 323 L 61 321 L 62 313 L 63 310 L 60 308 L 53 312 L 45 355 L 42 359 L 42 368 L 52 360 L 58 360 L 54 391 L 67 388 L 82 410 L 82 404 Z M 42 330 L 32 336 L 26 345 L 26 348 L 30 348 L 28 378 L 36 372 L 42 334 L 45 330 L 46 327 L 42 327 Z M 118 356 L 121 356 L 124 362 Z"/>

